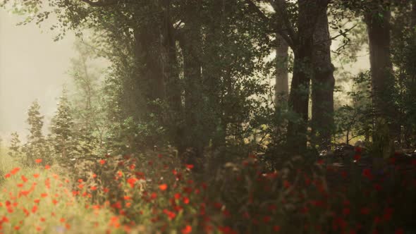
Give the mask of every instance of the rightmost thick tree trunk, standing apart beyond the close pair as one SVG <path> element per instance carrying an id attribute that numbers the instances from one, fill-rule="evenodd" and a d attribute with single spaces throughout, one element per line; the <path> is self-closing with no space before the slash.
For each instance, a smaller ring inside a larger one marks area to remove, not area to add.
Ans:
<path id="1" fill-rule="evenodd" d="M 373 143 L 379 156 L 386 158 L 392 153 L 393 136 L 400 132 L 397 132 L 396 124 L 393 123 L 396 109 L 392 101 L 394 79 L 390 58 L 391 13 L 390 10 L 381 7 L 377 11 L 367 13 L 365 21 L 369 37 L 369 61 L 376 117 Z"/>

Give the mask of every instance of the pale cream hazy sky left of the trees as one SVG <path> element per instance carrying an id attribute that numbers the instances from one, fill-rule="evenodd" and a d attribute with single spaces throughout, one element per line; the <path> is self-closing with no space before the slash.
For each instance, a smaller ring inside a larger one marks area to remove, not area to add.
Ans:
<path id="1" fill-rule="evenodd" d="M 37 99 L 49 123 L 62 85 L 71 82 L 66 71 L 76 54 L 73 35 L 54 42 L 56 32 L 47 25 L 16 26 L 21 19 L 0 9 L 0 136 L 16 130 L 25 139 L 28 107 Z"/>

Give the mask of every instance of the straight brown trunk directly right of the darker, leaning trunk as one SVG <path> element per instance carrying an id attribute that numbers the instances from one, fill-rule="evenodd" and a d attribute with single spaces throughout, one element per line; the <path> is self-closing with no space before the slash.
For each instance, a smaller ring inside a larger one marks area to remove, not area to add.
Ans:
<path id="1" fill-rule="evenodd" d="M 334 66 L 331 63 L 331 36 L 326 11 L 318 16 L 312 55 L 312 145 L 328 147 L 334 128 Z"/>

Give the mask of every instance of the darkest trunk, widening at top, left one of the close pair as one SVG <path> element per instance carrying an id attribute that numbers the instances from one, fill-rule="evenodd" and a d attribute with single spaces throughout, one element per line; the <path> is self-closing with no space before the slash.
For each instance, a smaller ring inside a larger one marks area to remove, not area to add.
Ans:
<path id="1" fill-rule="evenodd" d="M 289 107 L 298 119 L 289 120 L 287 141 L 290 152 L 300 154 L 307 149 L 307 121 L 310 80 L 313 76 L 313 33 L 317 16 L 326 9 L 328 1 L 298 1 L 298 32 L 293 40 L 293 78 L 290 85 Z M 287 20 L 286 20 L 287 21 Z"/>

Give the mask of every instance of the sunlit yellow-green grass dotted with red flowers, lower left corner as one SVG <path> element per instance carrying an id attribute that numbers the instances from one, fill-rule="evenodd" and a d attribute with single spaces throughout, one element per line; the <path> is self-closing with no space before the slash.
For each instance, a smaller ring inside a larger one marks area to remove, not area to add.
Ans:
<path id="1" fill-rule="evenodd" d="M 22 168 L 1 156 L 0 233 L 105 233 L 114 214 L 75 197 L 73 183 L 54 168 Z M 111 231 L 117 233 L 117 231 Z"/>

